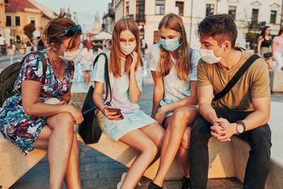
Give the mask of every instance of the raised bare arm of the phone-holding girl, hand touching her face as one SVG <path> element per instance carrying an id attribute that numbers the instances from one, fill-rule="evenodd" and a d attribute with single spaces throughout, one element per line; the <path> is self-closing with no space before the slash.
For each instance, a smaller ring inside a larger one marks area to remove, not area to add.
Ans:
<path id="1" fill-rule="evenodd" d="M 132 103 L 137 103 L 137 101 L 139 101 L 139 97 L 141 96 L 141 91 L 137 85 L 136 71 L 134 70 L 137 64 L 137 52 L 132 52 L 130 55 L 132 56 L 133 62 L 129 71 L 129 100 Z"/>

